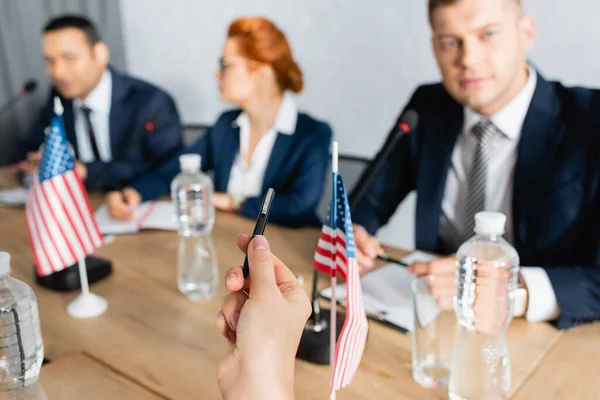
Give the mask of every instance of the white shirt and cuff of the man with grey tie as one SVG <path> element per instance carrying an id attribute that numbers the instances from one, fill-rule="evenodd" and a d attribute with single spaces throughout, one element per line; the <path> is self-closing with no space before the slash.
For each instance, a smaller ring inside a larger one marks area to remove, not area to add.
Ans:
<path id="1" fill-rule="evenodd" d="M 512 199 L 517 150 L 536 84 L 537 72 L 529 67 L 529 77 L 523 90 L 506 107 L 489 118 L 502 135 L 496 137 L 492 143 L 492 157 L 488 164 L 485 188 L 485 210 L 506 215 L 504 237 L 510 243 L 513 243 L 514 239 Z M 477 138 L 471 130 L 484 118 L 475 111 L 464 108 L 463 130 L 452 153 L 442 200 L 440 234 L 446 243 L 453 246 L 460 244 L 457 241 L 460 240 L 460 232 L 463 232 L 460 216 L 465 213 L 468 176 L 477 148 Z M 560 312 L 548 274 L 537 267 L 521 268 L 521 273 L 528 288 L 527 320 L 539 322 L 557 318 Z"/>

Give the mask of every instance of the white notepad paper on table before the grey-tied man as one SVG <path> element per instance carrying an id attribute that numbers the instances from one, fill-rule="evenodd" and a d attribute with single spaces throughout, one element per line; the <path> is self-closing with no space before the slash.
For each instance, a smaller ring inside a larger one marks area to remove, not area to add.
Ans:
<path id="1" fill-rule="evenodd" d="M 415 251 L 402 261 L 411 264 L 415 261 L 431 261 L 435 256 Z M 361 276 L 363 303 L 369 318 L 375 319 L 402 332 L 412 332 L 414 317 L 412 310 L 412 281 L 414 276 L 406 268 L 397 264 L 388 264 L 373 272 Z M 346 303 L 346 284 L 336 286 L 337 302 Z M 319 292 L 321 297 L 331 300 L 331 288 Z M 437 306 L 432 304 L 432 315 L 421 318 L 435 318 Z"/>

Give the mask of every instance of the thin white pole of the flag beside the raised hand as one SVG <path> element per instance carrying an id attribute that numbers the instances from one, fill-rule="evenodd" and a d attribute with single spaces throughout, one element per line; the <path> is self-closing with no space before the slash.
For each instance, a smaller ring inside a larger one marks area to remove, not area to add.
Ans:
<path id="1" fill-rule="evenodd" d="M 333 184 L 331 185 L 332 190 L 332 207 L 331 207 L 331 226 L 332 226 L 332 261 L 331 266 L 331 309 L 329 312 L 329 368 L 330 368 L 330 400 L 335 400 L 336 391 L 333 388 L 333 379 L 335 371 L 335 353 L 336 353 L 336 339 L 337 339 L 337 297 L 336 297 L 336 286 L 337 286 L 337 173 L 338 173 L 338 142 L 333 142 L 333 149 L 331 154 L 331 170 L 333 176 Z"/>

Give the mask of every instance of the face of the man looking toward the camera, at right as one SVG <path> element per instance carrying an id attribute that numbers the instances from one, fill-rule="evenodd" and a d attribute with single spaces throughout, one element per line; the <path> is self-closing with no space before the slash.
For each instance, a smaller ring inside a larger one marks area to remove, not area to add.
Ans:
<path id="1" fill-rule="evenodd" d="M 432 45 L 446 90 L 491 116 L 527 81 L 535 23 L 513 0 L 462 0 L 431 15 Z"/>

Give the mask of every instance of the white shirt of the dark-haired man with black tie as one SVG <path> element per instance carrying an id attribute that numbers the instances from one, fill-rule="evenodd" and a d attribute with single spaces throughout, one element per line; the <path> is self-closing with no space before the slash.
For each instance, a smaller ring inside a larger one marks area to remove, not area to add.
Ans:
<path id="1" fill-rule="evenodd" d="M 100 82 L 92 93 L 85 99 L 73 100 L 73 116 L 75 118 L 75 135 L 77 137 L 77 151 L 79 159 L 84 163 L 96 161 L 90 143 L 90 134 L 85 122 L 85 115 L 81 106 L 88 107 L 91 111 L 90 121 L 94 127 L 98 153 L 104 162 L 112 159 L 110 150 L 110 107 L 112 103 L 112 74 L 107 69 L 104 71 Z"/>

